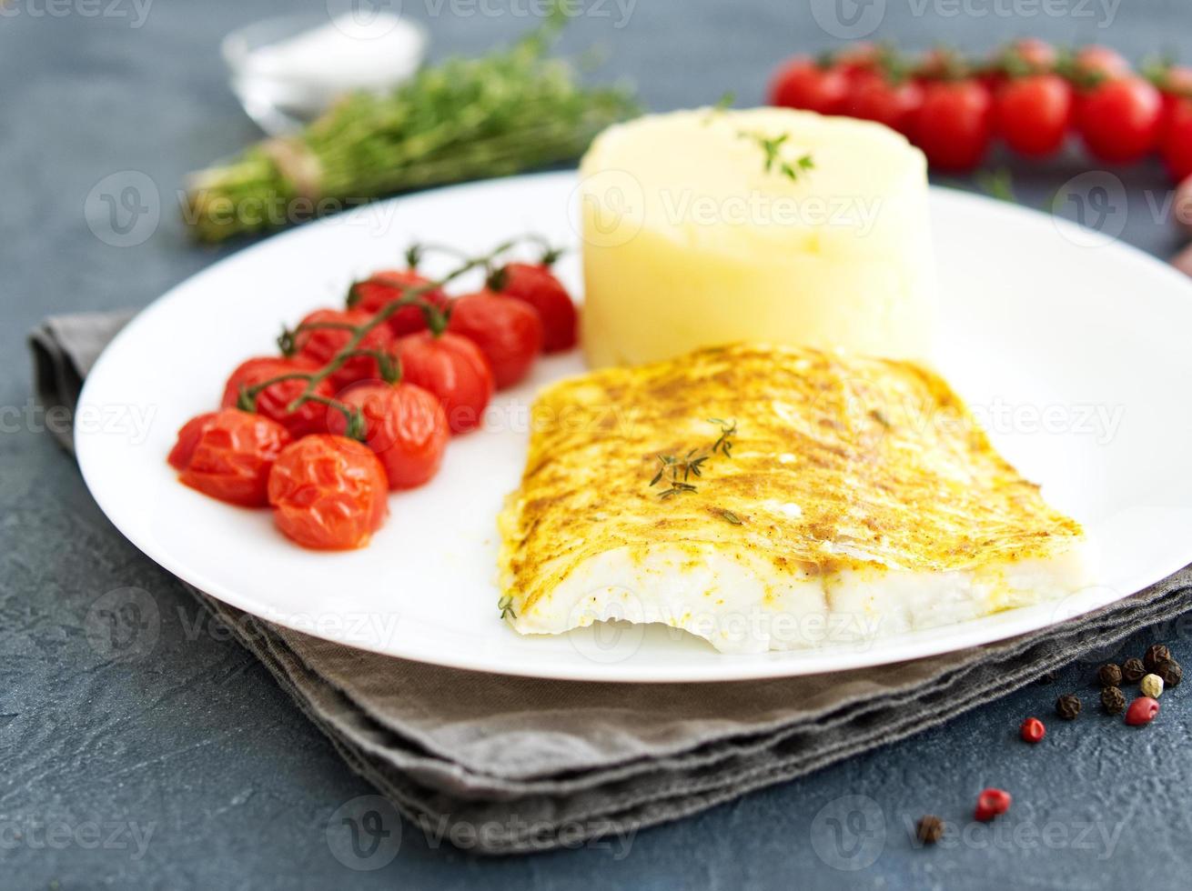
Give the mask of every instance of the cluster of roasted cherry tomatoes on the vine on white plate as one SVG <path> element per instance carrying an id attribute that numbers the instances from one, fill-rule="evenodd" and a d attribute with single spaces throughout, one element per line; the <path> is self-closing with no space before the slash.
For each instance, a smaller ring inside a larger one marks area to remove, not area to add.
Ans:
<path id="1" fill-rule="evenodd" d="M 478 292 L 452 298 L 411 266 L 354 284 L 343 309 L 309 313 L 279 338 L 283 355 L 242 362 L 223 407 L 178 431 L 167 460 L 179 479 L 271 506 L 303 547 L 367 544 L 390 490 L 429 482 L 495 390 L 521 382 L 540 353 L 576 344 L 575 304 L 550 268 L 557 254 L 491 268 L 493 256 L 460 270 L 489 267 Z"/>

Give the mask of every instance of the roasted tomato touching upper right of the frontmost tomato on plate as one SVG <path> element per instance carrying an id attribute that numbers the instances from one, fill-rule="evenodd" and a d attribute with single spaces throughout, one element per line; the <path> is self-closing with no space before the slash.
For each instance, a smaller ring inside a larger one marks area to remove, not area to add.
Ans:
<path id="1" fill-rule="evenodd" d="M 412 488 L 439 472 L 451 438 L 447 415 L 422 387 L 414 384 L 356 384 L 340 401 L 358 409 L 365 419 L 365 443 L 385 466 L 390 488 Z M 333 434 L 343 434 L 342 412 L 328 415 Z"/>

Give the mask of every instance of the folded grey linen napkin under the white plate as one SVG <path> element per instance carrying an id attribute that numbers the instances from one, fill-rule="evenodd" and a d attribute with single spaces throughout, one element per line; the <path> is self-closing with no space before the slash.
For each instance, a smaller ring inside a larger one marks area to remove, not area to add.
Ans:
<path id="1" fill-rule="evenodd" d="M 46 407 L 73 406 L 126 318 L 51 318 L 31 335 Z M 404 817 L 433 837 L 505 854 L 614 843 L 943 723 L 1188 610 L 1192 567 L 1044 631 L 831 681 L 488 675 L 364 653 L 193 593 Z"/>

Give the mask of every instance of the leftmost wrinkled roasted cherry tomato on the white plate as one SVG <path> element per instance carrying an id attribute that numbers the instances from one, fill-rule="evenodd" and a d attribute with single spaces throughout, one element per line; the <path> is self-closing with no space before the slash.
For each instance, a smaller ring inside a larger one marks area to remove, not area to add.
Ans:
<path id="1" fill-rule="evenodd" d="M 188 446 L 195 430 L 198 436 Z M 169 460 L 175 467 L 175 457 L 186 460 L 179 479 L 191 488 L 221 501 L 262 507 L 269 469 L 290 442 L 290 434 L 275 420 L 222 409 L 184 424 Z"/>

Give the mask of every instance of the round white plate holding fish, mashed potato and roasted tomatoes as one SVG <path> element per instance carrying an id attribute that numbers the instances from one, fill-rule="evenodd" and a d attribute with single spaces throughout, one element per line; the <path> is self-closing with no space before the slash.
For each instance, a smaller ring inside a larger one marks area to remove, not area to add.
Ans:
<path id="1" fill-rule="evenodd" d="M 1060 604 L 764 656 L 720 655 L 662 627 L 520 637 L 498 621 L 495 517 L 521 474 L 528 404 L 579 370 L 576 355 L 540 362 L 532 381 L 499 394 L 490 429 L 454 440 L 429 486 L 392 496 L 365 550 L 303 550 L 268 511 L 176 482 L 164 460 L 176 429 L 217 404 L 241 360 L 272 350 L 281 322 L 337 305 L 353 278 L 397 264 L 410 241 L 479 253 L 534 230 L 576 244 L 573 187 L 571 174 L 545 174 L 386 201 L 269 238 L 178 286 L 87 380 L 76 444 L 95 500 L 168 571 L 272 622 L 405 659 L 582 680 L 733 680 L 915 659 L 1044 628 L 1192 562 L 1192 285 L 1087 230 L 942 189 L 942 368 L 1099 552 L 1103 584 Z M 575 255 L 561 272 L 578 289 Z"/>

